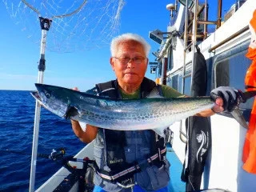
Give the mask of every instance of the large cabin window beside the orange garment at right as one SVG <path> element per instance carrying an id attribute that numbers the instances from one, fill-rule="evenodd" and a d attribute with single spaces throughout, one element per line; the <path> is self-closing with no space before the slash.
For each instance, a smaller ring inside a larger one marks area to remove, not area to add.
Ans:
<path id="1" fill-rule="evenodd" d="M 245 90 L 245 76 L 246 71 L 251 64 L 251 60 L 246 58 L 248 44 L 246 49 L 240 47 L 240 52 L 235 50 L 230 50 L 228 53 L 222 53 L 219 56 L 219 61 L 214 63 L 215 71 L 215 85 L 218 86 L 233 86 L 238 90 Z M 226 56 L 225 56 L 226 54 Z M 241 103 L 241 109 L 251 109 L 253 104 L 253 98 L 251 98 L 246 103 Z"/>

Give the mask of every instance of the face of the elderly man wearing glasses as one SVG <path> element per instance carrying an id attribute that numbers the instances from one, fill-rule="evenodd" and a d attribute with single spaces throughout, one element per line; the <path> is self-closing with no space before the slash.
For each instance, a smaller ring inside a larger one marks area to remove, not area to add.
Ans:
<path id="1" fill-rule="evenodd" d="M 123 62 L 123 58 L 126 58 L 126 60 L 127 58 L 134 59 L 130 60 L 130 62 Z M 142 62 L 136 62 L 136 58 L 139 58 Z M 143 46 L 135 41 L 127 41 L 119 44 L 118 51 L 114 57 L 110 58 L 110 64 L 121 86 L 141 84 L 146 73 L 147 62 L 148 58 L 146 58 Z"/>

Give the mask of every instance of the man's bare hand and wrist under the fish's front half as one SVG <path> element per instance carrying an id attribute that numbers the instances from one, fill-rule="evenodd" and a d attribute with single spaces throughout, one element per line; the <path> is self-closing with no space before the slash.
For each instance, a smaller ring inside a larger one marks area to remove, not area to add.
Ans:
<path id="1" fill-rule="evenodd" d="M 78 121 L 71 120 L 72 129 L 74 134 L 82 141 L 82 142 L 92 142 L 94 138 L 96 138 L 98 127 L 90 126 L 86 124 L 86 131 L 83 131 Z"/>

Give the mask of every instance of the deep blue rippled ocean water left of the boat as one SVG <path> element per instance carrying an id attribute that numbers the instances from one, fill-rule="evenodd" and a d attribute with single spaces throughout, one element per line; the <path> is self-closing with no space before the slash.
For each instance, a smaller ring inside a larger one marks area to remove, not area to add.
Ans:
<path id="1" fill-rule="evenodd" d="M 28 191 L 34 132 L 35 100 L 30 91 L 0 90 L 0 191 Z M 77 154 L 85 144 L 73 133 L 70 121 L 42 107 L 38 154 L 64 147 L 66 155 Z M 35 189 L 62 165 L 38 158 Z"/>

